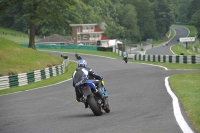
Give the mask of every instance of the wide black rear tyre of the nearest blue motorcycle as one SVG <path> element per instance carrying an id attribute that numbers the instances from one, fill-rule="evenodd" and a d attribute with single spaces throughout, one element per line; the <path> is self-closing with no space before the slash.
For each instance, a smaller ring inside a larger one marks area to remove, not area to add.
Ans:
<path id="1" fill-rule="evenodd" d="M 90 94 L 87 96 L 87 102 L 88 102 L 88 105 L 90 106 L 90 109 L 94 113 L 94 115 L 101 116 L 103 114 L 101 108 L 97 105 L 93 97 L 93 94 Z"/>

